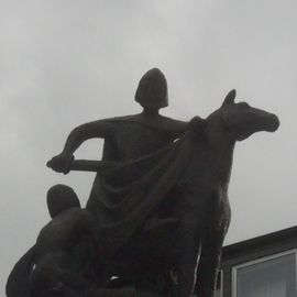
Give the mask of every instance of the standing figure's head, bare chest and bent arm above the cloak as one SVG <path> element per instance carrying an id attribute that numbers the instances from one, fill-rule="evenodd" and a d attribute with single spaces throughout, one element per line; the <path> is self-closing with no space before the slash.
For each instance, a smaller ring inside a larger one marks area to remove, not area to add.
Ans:
<path id="1" fill-rule="evenodd" d="M 89 122 L 75 128 L 63 152 L 48 162 L 56 172 L 67 174 L 73 154 L 86 140 L 105 139 L 102 161 L 124 162 L 142 157 L 168 145 L 185 133 L 188 122 L 174 120 L 158 113 L 168 106 L 167 82 L 164 74 L 153 68 L 141 78 L 135 101 L 143 111 L 139 114 Z M 97 175 L 87 208 L 92 211 L 97 199 Z M 95 213 L 96 215 L 96 213 Z"/>

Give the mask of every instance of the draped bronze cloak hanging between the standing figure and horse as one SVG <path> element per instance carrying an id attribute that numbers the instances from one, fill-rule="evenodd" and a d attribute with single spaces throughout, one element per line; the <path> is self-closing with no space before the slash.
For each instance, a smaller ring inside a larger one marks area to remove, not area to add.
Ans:
<path id="1" fill-rule="evenodd" d="M 87 209 L 96 216 L 107 257 L 141 230 L 164 199 L 169 199 L 194 148 L 188 131 L 164 148 L 97 174 Z"/>

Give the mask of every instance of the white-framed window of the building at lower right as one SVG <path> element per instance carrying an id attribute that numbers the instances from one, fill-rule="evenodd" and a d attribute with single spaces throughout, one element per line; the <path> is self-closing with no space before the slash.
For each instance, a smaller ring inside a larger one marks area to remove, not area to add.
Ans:
<path id="1" fill-rule="evenodd" d="M 233 268 L 233 297 L 296 297 L 296 252 L 290 251 Z"/>

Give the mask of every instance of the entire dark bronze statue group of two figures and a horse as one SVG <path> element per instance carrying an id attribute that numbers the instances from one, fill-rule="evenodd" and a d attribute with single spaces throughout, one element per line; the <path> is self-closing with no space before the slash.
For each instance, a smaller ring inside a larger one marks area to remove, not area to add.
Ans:
<path id="1" fill-rule="evenodd" d="M 234 99 L 232 90 L 206 119 L 166 118 L 167 82 L 153 68 L 135 94 L 141 113 L 74 129 L 47 166 L 96 172 L 87 206 L 65 185 L 48 190 L 52 221 L 13 267 L 7 296 L 213 297 L 235 143 L 279 125 Z M 75 160 L 92 138 L 105 140 L 101 161 Z"/>

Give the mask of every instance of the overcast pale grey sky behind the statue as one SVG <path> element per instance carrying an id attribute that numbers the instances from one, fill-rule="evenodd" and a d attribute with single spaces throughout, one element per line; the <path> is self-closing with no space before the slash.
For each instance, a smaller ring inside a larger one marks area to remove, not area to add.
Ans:
<path id="1" fill-rule="evenodd" d="M 48 187 L 73 186 L 84 206 L 90 191 L 92 174 L 46 161 L 76 125 L 139 112 L 152 67 L 168 81 L 163 114 L 207 117 L 235 88 L 280 119 L 237 145 L 226 243 L 296 226 L 296 0 L 0 0 L 0 290 L 50 219 Z M 76 156 L 100 158 L 101 145 Z"/>

